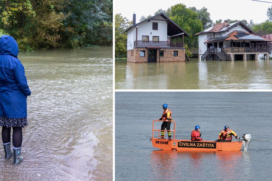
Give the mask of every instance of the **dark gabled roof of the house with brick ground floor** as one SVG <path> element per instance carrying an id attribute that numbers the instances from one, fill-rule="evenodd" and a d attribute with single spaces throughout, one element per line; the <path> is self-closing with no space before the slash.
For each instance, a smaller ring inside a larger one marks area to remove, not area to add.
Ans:
<path id="1" fill-rule="evenodd" d="M 177 34 L 180 34 L 180 33 L 184 33 L 184 36 L 189 36 L 189 34 L 186 31 L 184 31 L 181 27 L 179 27 L 175 22 L 173 22 L 170 18 L 168 18 L 168 16 L 166 16 L 164 13 L 159 13 L 159 14 L 157 14 L 155 16 L 152 16 L 151 18 L 148 18 L 146 20 L 141 21 L 140 23 L 132 25 L 126 31 L 124 31 L 124 33 L 129 31 L 131 28 L 134 28 L 134 27 L 138 26 L 141 23 L 144 23 L 146 21 L 149 22 L 150 20 L 154 20 L 155 17 L 157 17 L 157 16 L 161 16 L 163 19 L 168 21 L 168 23 L 167 23 L 167 35 L 168 36 L 177 35 Z M 155 20 L 158 21 L 158 19 L 155 19 Z"/>

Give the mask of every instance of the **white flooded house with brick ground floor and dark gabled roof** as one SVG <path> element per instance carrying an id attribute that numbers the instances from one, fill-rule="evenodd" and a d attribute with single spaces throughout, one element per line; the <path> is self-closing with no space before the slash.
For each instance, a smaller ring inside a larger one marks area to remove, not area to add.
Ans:
<path id="1" fill-rule="evenodd" d="M 127 61 L 176 62 L 189 60 L 185 53 L 184 37 L 189 36 L 164 13 L 159 13 L 133 25 L 127 33 Z"/>

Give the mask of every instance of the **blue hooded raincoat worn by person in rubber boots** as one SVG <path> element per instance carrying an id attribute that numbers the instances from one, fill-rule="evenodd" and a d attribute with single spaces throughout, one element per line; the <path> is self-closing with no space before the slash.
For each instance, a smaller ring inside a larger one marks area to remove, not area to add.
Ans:
<path id="1" fill-rule="evenodd" d="M 18 44 L 9 35 L 0 38 L 0 117 L 27 117 L 28 88 L 24 67 L 17 58 Z"/>

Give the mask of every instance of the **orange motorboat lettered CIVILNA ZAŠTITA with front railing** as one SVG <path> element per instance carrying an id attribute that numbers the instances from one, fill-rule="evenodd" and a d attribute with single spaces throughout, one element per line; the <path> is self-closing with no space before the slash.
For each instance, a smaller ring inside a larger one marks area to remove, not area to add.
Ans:
<path id="1" fill-rule="evenodd" d="M 214 142 L 214 141 L 191 141 L 191 140 L 176 140 L 175 139 L 175 130 L 176 130 L 176 122 L 174 122 L 174 130 L 170 130 L 174 132 L 174 136 L 172 140 L 161 139 L 159 136 L 160 131 L 167 130 L 154 130 L 154 122 L 155 121 L 163 121 L 163 120 L 154 120 L 153 121 L 153 131 L 152 131 L 152 144 L 154 147 L 162 149 L 162 150 L 182 150 L 182 151 L 237 151 L 241 150 L 242 145 L 244 145 L 243 150 L 247 150 L 249 143 L 251 142 L 251 134 L 244 134 L 242 140 L 238 142 Z M 158 137 L 154 138 L 154 131 L 158 131 Z"/>

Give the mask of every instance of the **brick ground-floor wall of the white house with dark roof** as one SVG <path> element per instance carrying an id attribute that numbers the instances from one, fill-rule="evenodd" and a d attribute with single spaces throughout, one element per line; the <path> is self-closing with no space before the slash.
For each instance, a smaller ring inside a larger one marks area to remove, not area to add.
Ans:
<path id="1" fill-rule="evenodd" d="M 139 50 L 139 51 L 137 51 Z M 164 51 L 164 56 L 159 57 L 159 51 L 157 50 L 157 62 L 181 62 L 185 61 L 185 49 L 160 49 Z M 140 51 L 145 51 L 145 56 L 140 57 Z M 178 56 L 174 56 L 174 51 L 178 51 Z M 133 50 L 128 50 L 127 61 L 133 63 L 145 62 L 147 63 L 147 48 L 134 48 Z"/>

